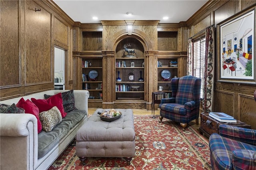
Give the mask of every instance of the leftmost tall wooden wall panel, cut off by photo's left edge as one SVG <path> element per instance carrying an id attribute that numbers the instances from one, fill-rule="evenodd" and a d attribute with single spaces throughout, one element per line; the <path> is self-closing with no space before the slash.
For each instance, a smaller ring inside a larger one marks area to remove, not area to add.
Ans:
<path id="1" fill-rule="evenodd" d="M 0 86 L 20 85 L 19 1 L 1 0 L 0 6 Z"/>

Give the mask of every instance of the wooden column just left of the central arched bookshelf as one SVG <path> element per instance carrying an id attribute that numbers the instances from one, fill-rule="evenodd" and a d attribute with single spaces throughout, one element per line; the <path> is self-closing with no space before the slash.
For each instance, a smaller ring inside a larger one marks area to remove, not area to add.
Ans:
<path id="1" fill-rule="evenodd" d="M 102 51 L 103 63 L 102 63 L 102 109 L 114 108 L 115 99 L 115 51 Z"/>

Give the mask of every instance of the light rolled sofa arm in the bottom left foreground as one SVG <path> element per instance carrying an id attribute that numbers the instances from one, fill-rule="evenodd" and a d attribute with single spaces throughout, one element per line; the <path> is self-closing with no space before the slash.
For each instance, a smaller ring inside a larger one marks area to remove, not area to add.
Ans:
<path id="1" fill-rule="evenodd" d="M 37 119 L 32 114 L 0 114 L 0 169 L 35 169 Z"/>

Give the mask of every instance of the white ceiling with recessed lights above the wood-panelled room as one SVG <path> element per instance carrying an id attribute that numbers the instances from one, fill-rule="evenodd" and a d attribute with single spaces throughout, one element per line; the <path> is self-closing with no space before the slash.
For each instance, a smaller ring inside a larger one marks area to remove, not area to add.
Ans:
<path id="1" fill-rule="evenodd" d="M 72 20 L 100 23 L 100 20 L 187 21 L 208 0 L 53 0 Z M 126 15 L 132 12 L 132 16 Z M 92 17 L 98 17 L 93 20 Z M 163 17 L 167 16 L 167 20 Z"/>

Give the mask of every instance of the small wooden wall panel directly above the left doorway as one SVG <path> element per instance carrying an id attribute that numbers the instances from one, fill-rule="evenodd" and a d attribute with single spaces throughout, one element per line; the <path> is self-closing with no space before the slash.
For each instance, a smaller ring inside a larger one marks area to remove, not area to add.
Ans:
<path id="1" fill-rule="evenodd" d="M 54 17 L 54 40 L 68 45 L 68 27 Z"/>

